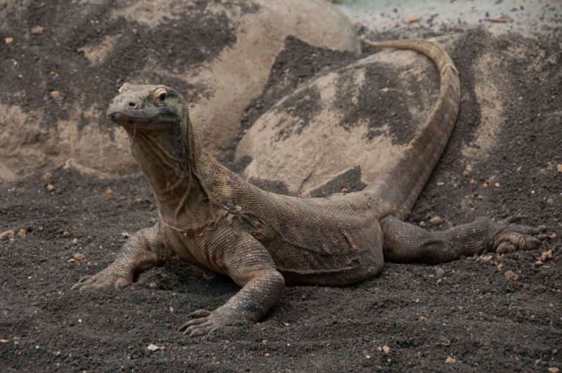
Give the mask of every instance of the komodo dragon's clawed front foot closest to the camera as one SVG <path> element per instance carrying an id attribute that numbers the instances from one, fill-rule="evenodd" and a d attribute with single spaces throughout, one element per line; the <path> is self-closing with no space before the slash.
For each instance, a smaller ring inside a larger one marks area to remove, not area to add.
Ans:
<path id="1" fill-rule="evenodd" d="M 242 324 L 245 320 L 238 315 L 233 315 L 226 310 L 217 308 L 213 312 L 196 310 L 188 316 L 191 320 L 178 328 L 179 332 L 189 336 L 204 336 L 213 334 L 227 325 Z"/>

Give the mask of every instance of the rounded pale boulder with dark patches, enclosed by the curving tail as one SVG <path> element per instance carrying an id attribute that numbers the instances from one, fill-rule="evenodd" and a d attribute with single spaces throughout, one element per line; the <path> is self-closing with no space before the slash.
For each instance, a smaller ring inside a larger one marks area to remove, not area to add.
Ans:
<path id="1" fill-rule="evenodd" d="M 246 178 L 282 181 L 296 195 L 310 195 L 340 174 L 359 171 L 367 183 L 428 117 L 438 79 L 417 53 L 375 53 L 280 100 L 242 137 L 236 159 L 251 158 Z"/>

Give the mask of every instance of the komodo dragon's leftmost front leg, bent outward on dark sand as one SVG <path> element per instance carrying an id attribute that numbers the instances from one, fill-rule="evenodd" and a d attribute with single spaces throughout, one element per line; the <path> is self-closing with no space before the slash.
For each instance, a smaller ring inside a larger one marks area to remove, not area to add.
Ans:
<path id="1" fill-rule="evenodd" d="M 132 284 L 141 272 L 162 265 L 170 255 L 158 223 L 152 228 L 138 230 L 119 251 L 110 266 L 96 275 L 82 277 L 71 289 L 85 290 L 108 286 L 122 289 Z"/>

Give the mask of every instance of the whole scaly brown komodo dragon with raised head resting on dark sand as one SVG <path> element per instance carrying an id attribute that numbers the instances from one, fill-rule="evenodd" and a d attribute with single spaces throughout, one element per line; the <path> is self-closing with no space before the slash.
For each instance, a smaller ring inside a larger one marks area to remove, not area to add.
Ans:
<path id="1" fill-rule="evenodd" d="M 443 263 L 485 249 L 539 247 L 544 227 L 481 219 L 440 232 L 404 223 L 447 144 L 459 111 L 458 72 L 430 41 L 371 43 L 419 51 L 436 63 L 433 112 L 403 156 L 361 192 L 326 198 L 276 195 L 247 183 L 202 147 L 183 97 L 166 86 L 124 84 L 107 116 L 129 134 L 133 156 L 154 192 L 159 222 L 135 233 L 105 270 L 72 289 L 123 288 L 177 254 L 242 287 L 223 306 L 196 310 L 179 330 L 202 336 L 256 322 L 285 284 L 345 286 L 381 272 L 384 260 Z"/>

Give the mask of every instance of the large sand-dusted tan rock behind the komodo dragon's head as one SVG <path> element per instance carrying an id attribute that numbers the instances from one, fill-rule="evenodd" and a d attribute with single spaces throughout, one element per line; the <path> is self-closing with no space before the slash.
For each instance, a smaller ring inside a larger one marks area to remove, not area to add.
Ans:
<path id="1" fill-rule="evenodd" d="M 38 32 L 43 27 L 42 32 Z M 0 2 L 0 178 L 73 159 L 136 171 L 107 103 L 125 81 L 174 86 L 219 157 L 290 34 L 358 53 L 355 30 L 322 0 Z"/>

